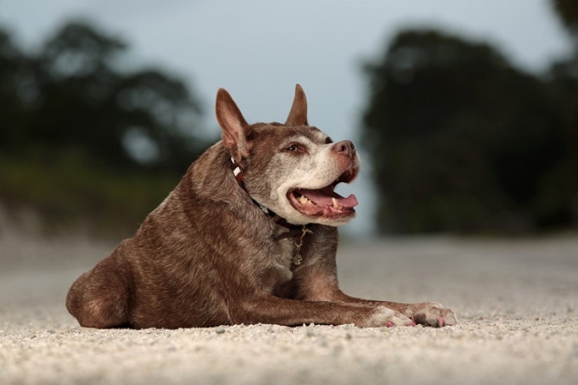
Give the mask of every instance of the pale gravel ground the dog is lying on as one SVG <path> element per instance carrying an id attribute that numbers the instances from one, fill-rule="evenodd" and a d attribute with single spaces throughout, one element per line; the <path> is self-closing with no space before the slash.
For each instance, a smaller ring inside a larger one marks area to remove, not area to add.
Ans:
<path id="1" fill-rule="evenodd" d="M 435 300 L 453 327 L 80 328 L 70 284 L 114 244 L 0 234 L 0 384 L 576 384 L 578 237 L 340 247 L 346 293 Z"/>

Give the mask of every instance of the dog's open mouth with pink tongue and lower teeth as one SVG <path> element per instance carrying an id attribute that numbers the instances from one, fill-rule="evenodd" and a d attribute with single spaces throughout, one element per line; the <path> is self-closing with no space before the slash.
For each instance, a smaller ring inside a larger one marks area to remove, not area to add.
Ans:
<path id="1" fill-rule="evenodd" d="M 305 216 L 324 216 L 328 218 L 342 218 L 355 213 L 357 206 L 355 195 L 342 197 L 336 193 L 338 181 L 318 190 L 296 188 L 287 194 L 291 206 Z"/>

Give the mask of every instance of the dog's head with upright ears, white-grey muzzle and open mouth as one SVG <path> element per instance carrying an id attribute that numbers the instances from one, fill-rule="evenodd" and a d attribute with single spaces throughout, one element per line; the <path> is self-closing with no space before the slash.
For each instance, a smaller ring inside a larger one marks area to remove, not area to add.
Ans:
<path id="1" fill-rule="evenodd" d="M 351 141 L 333 143 L 307 122 L 307 100 L 300 85 L 284 124 L 249 125 L 230 94 L 216 94 L 216 118 L 223 145 L 240 165 L 249 195 L 296 225 L 343 225 L 355 216 L 355 195 L 335 193 L 359 172 Z"/>

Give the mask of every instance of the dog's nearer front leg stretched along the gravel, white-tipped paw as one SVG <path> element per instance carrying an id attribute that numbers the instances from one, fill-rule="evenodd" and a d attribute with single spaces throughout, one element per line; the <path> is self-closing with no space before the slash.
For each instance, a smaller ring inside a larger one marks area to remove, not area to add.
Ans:
<path id="1" fill-rule="evenodd" d="M 274 295 L 258 295 L 229 308 L 233 324 L 275 323 L 277 325 L 343 325 L 365 328 L 412 325 L 411 319 L 383 306 L 364 306 L 338 302 L 287 300 Z"/>

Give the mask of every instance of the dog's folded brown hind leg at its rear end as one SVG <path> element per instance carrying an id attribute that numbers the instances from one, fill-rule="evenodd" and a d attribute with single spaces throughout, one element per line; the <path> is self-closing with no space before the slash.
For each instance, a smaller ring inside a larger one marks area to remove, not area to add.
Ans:
<path id="1" fill-rule="evenodd" d="M 129 326 L 130 274 L 114 254 L 72 284 L 67 309 L 86 328 Z"/>

